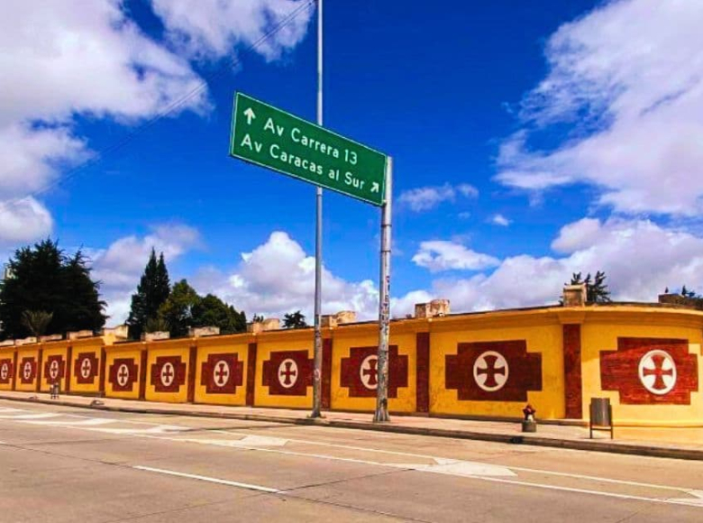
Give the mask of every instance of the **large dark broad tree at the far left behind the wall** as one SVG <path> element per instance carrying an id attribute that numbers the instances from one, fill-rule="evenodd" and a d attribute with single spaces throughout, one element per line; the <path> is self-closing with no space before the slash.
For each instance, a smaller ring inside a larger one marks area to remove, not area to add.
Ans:
<path id="1" fill-rule="evenodd" d="M 100 283 L 91 279 L 82 252 L 67 256 L 58 243 L 47 239 L 15 251 L 8 270 L 12 276 L 0 284 L 3 337 L 22 338 L 32 334 L 23 322 L 27 311 L 51 314 L 45 326 L 48 333 L 96 331 L 105 325 Z"/>

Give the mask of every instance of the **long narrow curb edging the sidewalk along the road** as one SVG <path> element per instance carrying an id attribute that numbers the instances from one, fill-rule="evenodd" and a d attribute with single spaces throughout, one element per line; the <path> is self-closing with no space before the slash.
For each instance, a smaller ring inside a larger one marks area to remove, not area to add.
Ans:
<path id="1" fill-rule="evenodd" d="M 504 443 L 508 445 L 534 445 L 568 450 L 589 452 L 604 452 L 609 454 L 629 454 L 647 457 L 670 458 L 681 460 L 703 461 L 703 450 L 661 447 L 649 445 L 621 444 L 611 441 L 571 440 L 540 436 L 519 436 L 505 433 L 485 433 L 469 430 L 453 430 L 447 428 L 405 427 L 402 425 L 370 424 L 359 421 L 312 419 L 307 417 L 278 417 L 262 414 L 242 414 L 237 412 L 203 412 L 198 410 L 177 410 L 171 408 L 139 408 L 139 407 L 110 407 L 106 405 L 90 406 L 61 401 L 56 399 L 14 398 L 0 394 L 0 399 L 8 401 L 23 401 L 26 403 L 41 403 L 58 405 L 60 407 L 87 408 L 90 410 L 105 410 L 107 412 L 129 412 L 132 414 L 158 414 L 162 416 L 212 417 L 219 419 L 240 419 L 244 421 L 261 421 L 283 425 L 305 425 L 333 428 L 352 428 L 393 434 L 408 434 L 414 436 L 452 437 L 454 439 L 470 439 Z"/>

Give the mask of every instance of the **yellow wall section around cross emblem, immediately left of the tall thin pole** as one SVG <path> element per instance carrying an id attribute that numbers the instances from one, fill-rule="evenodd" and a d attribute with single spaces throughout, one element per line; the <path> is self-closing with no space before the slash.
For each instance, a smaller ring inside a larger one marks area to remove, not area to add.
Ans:
<path id="1" fill-rule="evenodd" d="M 314 338 L 312 329 L 299 331 L 276 331 L 257 335 L 256 354 L 256 389 L 254 404 L 257 407 L 312 408 L 313 387 L 307 387 L 306 396 L 285 396 L 269 394 L 269 387 L 262 385 L 263 363 L 270 358 L 273 351 L 308 352 L 308 358 L 314 356 Z"/>

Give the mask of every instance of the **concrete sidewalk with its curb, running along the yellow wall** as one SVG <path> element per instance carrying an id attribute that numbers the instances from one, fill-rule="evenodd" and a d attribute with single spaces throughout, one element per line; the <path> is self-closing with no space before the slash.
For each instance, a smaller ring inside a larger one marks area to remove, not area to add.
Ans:
<path id="1" fill-rule="evenodd" d="M 524 434 L 520 423 L 509 421 L 485 421 L 449 419 L 443 417 L 394 416 L 390 423 L 375 424 L 370 413 L 324 412 L 324 419 L 310 419 L 308 411 L 287 408 L 249 408 L 199 405 L 190 403 L 160 403 L 128 399 L 101 398 L 99 405 L 91 405 L 95 398 L 61 395 L 50 399 L 47 393 L 0 391 L 0 399 L 40 402 L 65 407 L 91 408 L 133 413 L 221 417 L 264 421 L 292 425 L 322 425 L 324 427 L 354 428 L 375 430 L 397 434 L 418 436 L 439 436 L 461 439 L 476 439 L 512 445 L 539 445 L 573 450 L 597 451 L 616 454 L 637 454 L 653 457 L 678 458 L 703 461 L 703 440 L 701 444 L 675 444 L 661 441 L 635 439 L 609 439 L 609 434 L 594 433 L 589 439 L 588 427 L 541 423 L 536 434 Z M 646 436 L 647 429 L 644 431 Z M 618 433 L 627 433 L 625 428 L 616 428 Z M 630 436 L 631 437 L 631 436 Z"/>

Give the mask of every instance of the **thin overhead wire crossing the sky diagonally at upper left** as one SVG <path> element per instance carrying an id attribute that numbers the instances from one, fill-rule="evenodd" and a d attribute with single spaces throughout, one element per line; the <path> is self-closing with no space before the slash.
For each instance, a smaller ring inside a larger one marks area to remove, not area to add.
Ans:
<path id="1" fill-rule="evenodd" d="M 176 112 L 180 107 L 184 106 L 189 100 L 193 99 L 195 96 L 198 96 L 200 93 L 202 93 L 208 87 L 208 85 L 210 85 L 214 80 L 216 80 L 217 78 L 220 78 L 225 73 L 227 73 L 231 69 L 233 69 L 233 67 L 239 65 L 239 63 L 242 61 L 242 58 L 241 58 L 242 56 L 250 54 L 251 52 L 257 50 L 263 43 L 268 41 L 272 36 L 276 35 L 279 31 L 281 31 L 289 23 L 293 22 L 297 18 L 298 14 L 301 14 L 303 11 L 305 11 L 311 5 L 315 5 L 315 0 L 306 0 L 306 2 L 304 2 L 303 4 L 298 5 L 293 11 L 291 11 L 284 18 L 282 18 L 280 20 L 280 22 L 278 22 L 276 25 L 274 25 L 269 30 L 269 32 L 266 32 L 263 35 L 261 35 L 259 39 L 252 42 L 248 47 L 241 50 L 238 55 L 233 57 L 233 59 L 226 60 L 223 63 L 223 65 L 219 68 L 219 70 L 215 71 L 214 73 L 212 73 L 210 75 L 204 75 L 205 79 L 202 82 L 200 82 L 200 84 L 197 87 L 188 91 L 187 94 L 178 98 L 176 101 L 171 103 L 166 108 L 162 109 L 156 115 L 151 116 L 150 119 L 148 119 L 143 124 L 140 124 L 139 126 L 137 126 L 137 128 L 132 130 L 132 132 L 124 135 L 123 138 L 121 140 L 119 140 L 118 142 L 114 142 L 112 145 L 109 145 L 108 147 L 105 147 L 105 149 L 103 149 L 102 151 L 99 151 L 98 154 L 96 154 L 96 157 L 93 158 L 92 160 L 81 163 L 80 165 L 74 167 L 73 169 L 68 170 L 66 173 L 64 173 L 62 176 L 60 176 L 58 179 L 54 179 L 50 183 L 44 185 L 41 188 L 38 188 L 38 189 L 30 192 L 29 194 L 24 195 L 23 197 L 14 197 L 12 199 L 6 200 L 5 202 L 0 202 L 0 209 L 3 209 L 3 208 L 8 209 L 10 206 L 16 206 L 17 204 L 19 204 L 23 200 L 26 200 L 27 198 L 41 196 L 42 194 L 49 191 L 51 188 L 59 187 L 59 185 L 66 183 L 70 179 L 76 178 L 79 174 L 82 174 L 83 172 L 95 167 L 96 165 L 98 165 L 99 163 L 104 161 L 106 157 L 110 156 L 114 152 L 120 151 L 125 146 L 127 146 L 129 143 L 134 141 L 134 139 L 137 138 L 140 134 L 151 129 L 151 127 L 158 124 L 165 117 L 171 115 L 172 113 Z"/>

